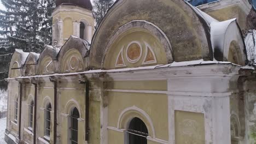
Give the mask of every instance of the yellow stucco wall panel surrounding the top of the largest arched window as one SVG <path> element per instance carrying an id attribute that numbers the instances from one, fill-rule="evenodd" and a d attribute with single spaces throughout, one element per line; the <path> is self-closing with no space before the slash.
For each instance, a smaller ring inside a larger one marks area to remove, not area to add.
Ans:
<path id="1" fill-rule="evenodd" d="M 108 125 L 110 127 L 117 127 L 120 113 L 127 107 L 135 105 L 145 111 L 152 119 L 156 137 L 158 139 L 168 140 L 168 106 L 166 94 L 109 92 L 108 103 Z M 144 123 L 146 125 L 148 124 L 148 122 Z M 147 128 L 151 129 L 150 125 L 147 125 Z"/>

